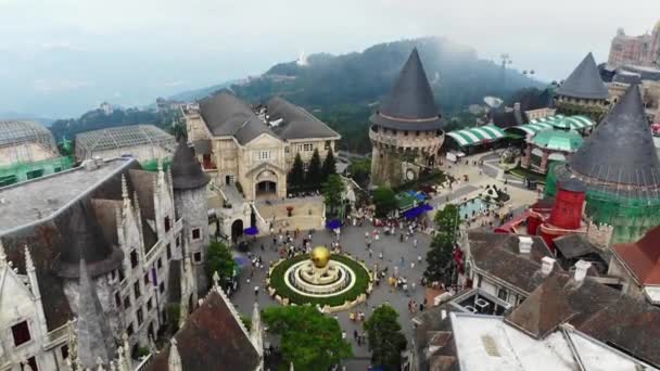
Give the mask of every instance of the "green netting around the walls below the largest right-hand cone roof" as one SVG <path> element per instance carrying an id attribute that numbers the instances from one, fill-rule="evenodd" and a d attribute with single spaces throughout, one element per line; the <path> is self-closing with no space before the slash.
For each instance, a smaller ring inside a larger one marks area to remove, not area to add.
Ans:
<path id="1" fill-rule="evenodd" d="M 557 182 L 571 177 L 564 163 L 557 163 L 546 178 L 546 196 L 557 194 Z M 611 243 L 633 242 L 660 226 L 660 193 L 627 186 L 606 187 L 585 183 L 585 214 L 596 225 L 613 228 Z"/>

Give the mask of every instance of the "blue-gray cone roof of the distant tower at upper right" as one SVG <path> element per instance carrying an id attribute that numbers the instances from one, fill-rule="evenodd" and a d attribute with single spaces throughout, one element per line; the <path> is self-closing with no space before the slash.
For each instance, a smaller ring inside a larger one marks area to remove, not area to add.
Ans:
<path id="1" fill-rule="evenodd" d="M 594 55 L 589 52 L 573 73 L 557 88 L 557 94 L 581 99 L 607 99 L 607 87 L 600 79 Z"/>

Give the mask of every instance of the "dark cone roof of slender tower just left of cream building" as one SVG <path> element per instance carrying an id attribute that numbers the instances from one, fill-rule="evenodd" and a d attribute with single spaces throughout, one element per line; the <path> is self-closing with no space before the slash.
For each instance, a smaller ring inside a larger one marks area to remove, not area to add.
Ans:
<path id="1" fill-rule="evenodd" d="M 172 182 L 175 190 L 191 190 L 204 187 L 211 178 L 202 170 L 194 158 L 192 148 L 186 140 L 179 140 L 179 145 L 172 159 Z"/>

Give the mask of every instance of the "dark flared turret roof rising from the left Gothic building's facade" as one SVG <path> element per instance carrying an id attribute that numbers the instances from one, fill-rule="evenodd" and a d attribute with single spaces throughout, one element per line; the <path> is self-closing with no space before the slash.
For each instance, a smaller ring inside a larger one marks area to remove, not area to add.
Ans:
<path id="1" fill-rule="evenodd" d="M 85 255 L 92 277 L 109 273 L 122 266 L 124 253 L 111 245 L 101 232 L 96 215 L 87 201 L 80 201 L 62 218 L 63 251 L 54 263 L 60 277 L 78 278 L 78 264 Z"/>

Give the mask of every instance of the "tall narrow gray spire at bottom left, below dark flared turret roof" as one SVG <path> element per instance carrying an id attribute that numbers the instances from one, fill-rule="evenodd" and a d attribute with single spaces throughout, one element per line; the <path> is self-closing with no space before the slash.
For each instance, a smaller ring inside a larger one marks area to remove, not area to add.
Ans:
<path id="1" fill-rule="evenodd" d="M 87 271 L 85 257 L 80 258 L 78 289 L 78 319 L 76 323 L 77 357 L 84 368 L 96 370 L 98 360 L 105 366 L 114 359 L 115 342 L 101 307 L 99 295 Z"/>

